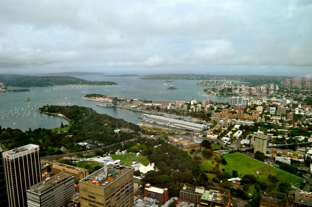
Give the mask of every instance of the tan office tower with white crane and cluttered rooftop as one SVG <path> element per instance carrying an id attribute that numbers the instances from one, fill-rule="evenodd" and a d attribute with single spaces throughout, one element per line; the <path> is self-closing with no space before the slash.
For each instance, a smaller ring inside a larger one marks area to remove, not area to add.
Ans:
<path id="1" fill-rule="evenodd" d="M 81 179 L 79 186 L 81 207 L 134 206 L 131 167 L 110 164 Z"/>

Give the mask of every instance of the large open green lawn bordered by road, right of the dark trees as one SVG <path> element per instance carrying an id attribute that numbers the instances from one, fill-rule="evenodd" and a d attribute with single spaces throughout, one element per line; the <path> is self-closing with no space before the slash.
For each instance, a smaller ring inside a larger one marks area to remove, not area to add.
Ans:
<path id="1" fill-rule="evenodd" d="M 280 182 L 297 184 L 303 181 L 302 178 L 281 171 L 280 169 L 277 169 L 275 167 L 266 165 L 250 157 L 241 155 L 238 152 L 226 154 L 223 155 L 223 157 L 227 161 L 227 165 L 220 164 L 220 169 L 224 168 L 230 174 L 232 174 L 232 170 L 237 170 L 238 176 L 240 178 L 242 178 L 246 174 L 249 174 L 259 177 L 259 181 L 264 182 L 267 181 L 268 175 L 271 174 L 277 176 L 277 178 L 280 180 L 279 182 L 276 183 L 276 186 L 278 186 Z M 262 173 L 257 174 L 256 171 L 261 171 Z"/>

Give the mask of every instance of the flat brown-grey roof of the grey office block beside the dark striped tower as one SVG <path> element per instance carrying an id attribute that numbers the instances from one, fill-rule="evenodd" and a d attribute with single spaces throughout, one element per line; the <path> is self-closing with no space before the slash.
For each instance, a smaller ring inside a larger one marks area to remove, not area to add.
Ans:
<path id="1" fill-rule="evenodd" d="M 34 192 L 36 194 L 42 194 L 46 190 L 62 183 L 63 181 L 66 181 L 68 179 L 73 178 L 74 176 L 71 176 L 67 173 L 60 172 L 52 177 L 47 178 L 44 181 L 41 181 L 35 185 L 32 185 L 29 187 L 29 191 Z"/>

